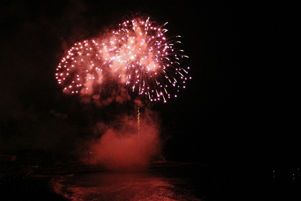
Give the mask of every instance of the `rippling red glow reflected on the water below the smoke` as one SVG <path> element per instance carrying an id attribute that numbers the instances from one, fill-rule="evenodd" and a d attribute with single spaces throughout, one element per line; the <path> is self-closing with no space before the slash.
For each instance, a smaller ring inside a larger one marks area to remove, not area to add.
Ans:
<path id="1" fill-rule="evenodd" d="M 103 171 L 65 175 L 54 179 L 52 185 L 56 193 L 73 201 L 202 200 L 191 178 L 182 176 L 171 169 Z"/>

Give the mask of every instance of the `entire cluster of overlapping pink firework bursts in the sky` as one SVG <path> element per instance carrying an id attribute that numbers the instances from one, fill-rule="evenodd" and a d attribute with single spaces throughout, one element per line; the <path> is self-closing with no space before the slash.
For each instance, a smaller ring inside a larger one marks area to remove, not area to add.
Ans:
<path id="1" fill-rule="evenodd" d="M 180 36 L 168 38 L 166 24 L 136 17 L 99 39 L 76 43 L 57 68 L 56 79 L 64 93 L 95 95 L 99 93 L 95 86 L 105 86 L 104 80 L 113 78 L 141 99 L 166 102 L 176 97 L 191 77 L 189 67 L 179 63 L 188 58 L 176 48 Z"/>

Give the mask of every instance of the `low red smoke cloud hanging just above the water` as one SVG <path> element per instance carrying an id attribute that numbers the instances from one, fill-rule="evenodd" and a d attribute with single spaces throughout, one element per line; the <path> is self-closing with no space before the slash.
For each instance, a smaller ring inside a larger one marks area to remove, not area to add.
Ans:
<path id="1" fill-rule="evenodd" d="M 160 128 L 153 112 L 124 116 L 116 125 L 109 125 L 103 135 L 92 143 L 88 164 L 101 164 L 113 170 L 137 170 L 160 157 Z M 99 128 L 103 130 L 104 128 Z"/>

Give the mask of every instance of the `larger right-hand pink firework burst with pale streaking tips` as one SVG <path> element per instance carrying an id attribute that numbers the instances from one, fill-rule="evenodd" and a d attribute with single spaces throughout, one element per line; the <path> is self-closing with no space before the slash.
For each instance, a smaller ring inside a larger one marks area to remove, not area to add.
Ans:
<path id="1" fill-rule="evenodd" d="M 179 63 L 187 56 L 175 48 L 180 36 L 167 38 L 165 24 L 157 26 L 149 17 L 125 21 L 112 32 L 109 46 L 104 49 L 105 60 L 109 60 L 112 72 L 118 74 L 121 82 L 151 101 L 166 102 L 171 97 L 169 92 L 185 88 L 188 79 L 189 67 L 185 70 Z"/>

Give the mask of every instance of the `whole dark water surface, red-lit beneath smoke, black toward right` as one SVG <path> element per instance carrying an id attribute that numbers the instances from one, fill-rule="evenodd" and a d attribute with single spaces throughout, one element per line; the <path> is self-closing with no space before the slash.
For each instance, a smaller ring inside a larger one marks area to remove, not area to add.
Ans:
<path id="1" fill-rule="evenodd" d="M 245 164 L 182 164 L 144 172 L 101 171 L 52 180 L 73 201 L 301 200 L 299 169 Z"/>

